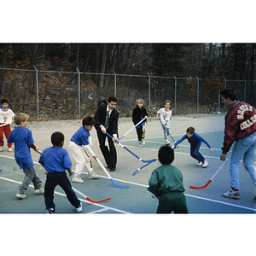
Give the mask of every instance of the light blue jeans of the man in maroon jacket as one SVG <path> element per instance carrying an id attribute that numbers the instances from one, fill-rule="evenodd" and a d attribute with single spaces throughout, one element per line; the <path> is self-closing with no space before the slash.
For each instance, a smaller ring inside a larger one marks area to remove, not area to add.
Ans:
<path id="1" fill-rule="evenodd" d="M 235 189 L 239 187 L 239 163 L 243 156 L 243 166 L 249 172 L 256 185 L 255 166 L 253 164 L 256 150 L 256 132 L 250 136 L 236 140 L 230 156 L 230 185 Z"/>

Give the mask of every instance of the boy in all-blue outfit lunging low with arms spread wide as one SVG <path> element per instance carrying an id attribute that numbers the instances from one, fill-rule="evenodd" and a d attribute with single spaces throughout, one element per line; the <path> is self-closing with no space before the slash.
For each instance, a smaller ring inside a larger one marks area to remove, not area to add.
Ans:
<path id="1" fill-rule="evenodd" d="M 195 133 L 194 127 L 189 127 L 187 129 L 187 134 L 185 134 L 181 139 L 174 143 L 172 148 L 175 148 L 177 144 L 183 142 L 184 139 L 188 139 L 190 143 L 190 155 L 196 160 L 198 160 L 197 166 L 202 166 L 203 168 L 207 167 L 209 163 L 199 152 L 201 143 L 205 143 L 207 144 L 207 147 L 210 148 L 210 152 L 213 154 L 212 147 L 209 143 L 207 143 L 207 140 L 205 140 L 199 134 Z"/>

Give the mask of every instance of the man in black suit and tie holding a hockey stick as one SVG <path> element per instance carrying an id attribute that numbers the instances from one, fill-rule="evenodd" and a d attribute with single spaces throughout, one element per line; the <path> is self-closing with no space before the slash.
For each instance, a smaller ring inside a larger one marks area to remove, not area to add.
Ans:
<path id="1" fill-rule="evenodd" d="M 115 171 L 117 162 L 116 149 L 113 144 L 118 138 L 119 112 L 115 109 L 116 103 L 116 97 L 110 96 L 108 98 L 108 104 L 99 105 L 94 116 L 100 148 L 111 172 Z M 106 131 L 113 136 L 113 139 L 106 135 Z M 105 145 L 106 137 L 108 137 L 109 148 Z"/>

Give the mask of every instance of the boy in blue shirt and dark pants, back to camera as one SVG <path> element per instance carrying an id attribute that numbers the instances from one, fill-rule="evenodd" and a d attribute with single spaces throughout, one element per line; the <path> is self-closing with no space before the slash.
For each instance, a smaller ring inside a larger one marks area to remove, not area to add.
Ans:
<path id="1" fill-rule="evenodd" d="M 61 186 L 67 195 L 67 200 L 76 208 L 77 212 L 82 212 L 82 204 L 74 193 L 69 176 L 73 174 L 72 161 L 64 145 L 64 135 L 60 131 L 54 132 L 51 137 L 51 148 L 45 148 L 44 153 L 39 158 L 39 163 L 44 166 L 47 174 L 44 187 L 44 202 L 49 213 L 55 213 L 54 192 L 57 185 Z"/>

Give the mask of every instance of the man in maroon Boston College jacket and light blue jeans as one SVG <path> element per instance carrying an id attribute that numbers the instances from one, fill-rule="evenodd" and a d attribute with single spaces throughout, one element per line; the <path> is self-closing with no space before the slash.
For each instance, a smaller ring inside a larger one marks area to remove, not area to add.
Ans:
<path id="1" fill-rule="evenodd" d="M 224 146 L 220 160 L 226 160 L 226 154 L 234 143 L 230 156 L 230 186 L 224 197 L 239 199 L 239 162 L 243 156 L 243 165 L 256 186 L 255 166 L 253 164 L 256 149 L 256 109 L 246 102 L 236 99 L 233 89 L 220 92 L 222 102 L 229 108 L 225 116 Z M 256 200 L 256 196 L 254 197 Z"/>

